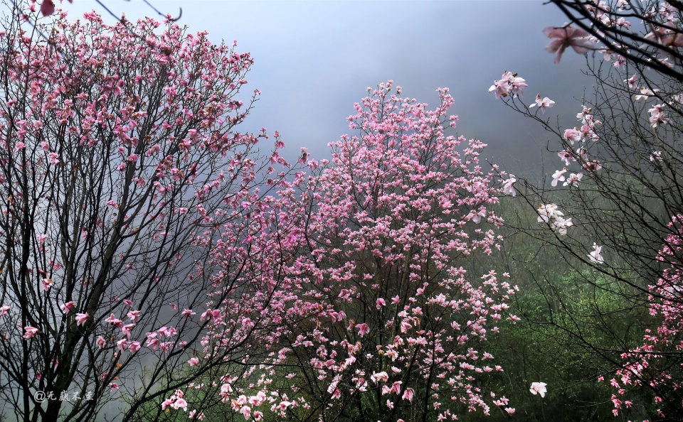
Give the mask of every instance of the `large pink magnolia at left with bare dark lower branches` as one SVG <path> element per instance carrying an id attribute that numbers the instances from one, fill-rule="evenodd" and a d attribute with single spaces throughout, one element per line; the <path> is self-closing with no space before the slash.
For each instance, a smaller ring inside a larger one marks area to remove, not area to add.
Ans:
<path id="1" fill-rule="evenodd" d="M 287 259 L 282 141 L 235 130 L 252 59 L 171 22 L 38 19 L 0 33 L 0 395 L 24 421 L 192 410 L 189 382 L 260 362 Z"/>

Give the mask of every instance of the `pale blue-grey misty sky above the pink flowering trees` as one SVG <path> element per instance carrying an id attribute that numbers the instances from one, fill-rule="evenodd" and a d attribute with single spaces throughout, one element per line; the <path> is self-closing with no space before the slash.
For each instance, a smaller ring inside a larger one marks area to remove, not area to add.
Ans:
<path id="1" fill-rule="evenodd" d="M 546 116 L 574 125 L 591 80 L 581 75 L 585 58 L 568 52 L 560 65 L 544 50 L 545 26 L 566 18 L 542 1 L 261 1 L 150 0 L 177 16 L 190 31 L 218 43 L 238 41 L 255 59 L 248 88 L 261 91 L 242 130 L 280 131 L 290 157 L 306 146 L 314 158 L 329 157 L 327 143 L 353 134 L 346 117 L 366 87 L 393 80 L 403 94 L 430 105 L 435 89 L 449 87 L 457 133 L 489 144 L 485 157 L 503 169 L 534 173 L 549 135 L 497 101 L 487 89 L 502 72 L 518 72 L 537 93 L 556 102 Z M 103 0 L 114 13 L 135 20 L 154 16 L 141 0 Z M 64 2 L 69 18 L 106 11 L 92 0 Z M 112 22 L 113 18 L 105 17 Z M 571 127 L 570 126 L 570 127 Z M 556 147 L 556 140 L 551 146 Z M 556 166 L 556 160 L 546 161 Z"/>

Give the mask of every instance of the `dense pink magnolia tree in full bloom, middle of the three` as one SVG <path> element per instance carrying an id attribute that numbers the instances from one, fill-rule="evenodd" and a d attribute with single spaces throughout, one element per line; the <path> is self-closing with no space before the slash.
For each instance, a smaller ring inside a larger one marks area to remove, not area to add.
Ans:
<path id="1" fill-rule="evenodd" d="M 514 412 L 477 386 L 502 371 L 482 347 L 497 321 L 516 318 L 514 288 L 507 274 L 461 266 L 498 246 L 497 188 L 482 171 L 485 144 L 444 134 L 457 117 L 438 92 L 430 110 L 381 84 L 349 117 L 359 135 L 331 145 L 332 163 L 309 161 L 307 253 L 287 272 L 289 322 L 270 372 L 231 396 L 245 417 L 263 406 L 302 421 Z"/>

